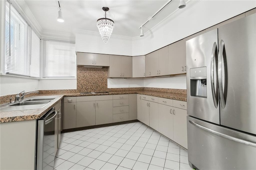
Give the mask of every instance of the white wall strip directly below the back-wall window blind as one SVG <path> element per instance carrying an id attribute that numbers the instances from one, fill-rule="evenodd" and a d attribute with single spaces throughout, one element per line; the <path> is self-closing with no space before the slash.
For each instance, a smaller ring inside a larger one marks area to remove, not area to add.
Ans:
<path id="1" fill-rule="evenodd" d="M 40 90 L 76 89 L 76 79 L 42 79 L 39 81 L 38 88 Z"/>

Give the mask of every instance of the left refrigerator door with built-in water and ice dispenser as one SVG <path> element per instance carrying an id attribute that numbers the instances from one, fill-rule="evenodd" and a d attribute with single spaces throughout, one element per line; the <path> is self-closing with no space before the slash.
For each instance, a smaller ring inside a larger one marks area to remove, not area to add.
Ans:
<path id="1" fill-rule="evenodd" d="M 188 115 L 219 125 L 217 58 L 217 29 L 186 41 Z M 205 72 L 206 77 L 202 77 Z M 200 90 L 203 90 L 202 93 Z"/>

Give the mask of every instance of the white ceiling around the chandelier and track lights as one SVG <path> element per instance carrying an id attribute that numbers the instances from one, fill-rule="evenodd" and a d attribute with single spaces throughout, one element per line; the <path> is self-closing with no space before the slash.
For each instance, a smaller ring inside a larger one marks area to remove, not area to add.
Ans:
<path id="1" fill-rule="evenodd" d="M 110 10 L 107 18 L 114 20 L 112 34 L 128 37 L 139 36 L 139 27 L 157 12 L 168 0 L 60 0 L 65 22 L 57 22 L 57 0 L 24 0 L 43 31 L 72 34 L 75 29 L 98 32 L 96 21 L 104 17 L 103 6 Z M 179 0 L 168 6 L 178 8 Z M 166 8 L 168 7 L 166 6 Z M 170 7 L 168 7 L 170 8 Z M 170 15 L 173 11 L 161 11 L 154 20 L 145 25 L 146 31 Z M 144 30 L 145 32 L 145 30 Z"/>

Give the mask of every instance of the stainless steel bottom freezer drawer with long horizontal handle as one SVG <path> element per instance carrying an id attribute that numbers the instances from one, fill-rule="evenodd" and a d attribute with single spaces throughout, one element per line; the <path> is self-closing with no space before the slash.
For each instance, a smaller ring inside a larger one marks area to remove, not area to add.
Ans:
<path id="1" fill-rule="evenodd" d="M 188 161 L 200 170 L 255 170 L 256 135 L 187 117 Z"/>

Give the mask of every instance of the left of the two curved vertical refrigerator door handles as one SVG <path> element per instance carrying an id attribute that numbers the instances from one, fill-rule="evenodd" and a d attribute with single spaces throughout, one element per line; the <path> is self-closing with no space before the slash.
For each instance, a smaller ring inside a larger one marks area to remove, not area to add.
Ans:
<path id="1" fill-rule="evenodd" d="M 214 42 L 213 47 L 212 47 L 211 68 L 210 69 L 211 69 L 212 98 L 213 98 L 213 103 L 214 103 L 215 108 L 218 108 L 218 103 L 219 103 L 218 83 L 216 83 L 216 91 L 215 91 L 215 83 L 214 83 L 214 66 L 217 69 L 217 63 L 218 63 L 218 49 L 217 49 L 216 42 Z M 218 74 L 216 74 L 216 77 L 218 79 Z"/>

